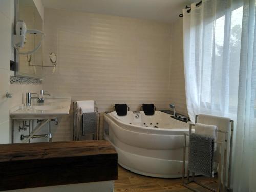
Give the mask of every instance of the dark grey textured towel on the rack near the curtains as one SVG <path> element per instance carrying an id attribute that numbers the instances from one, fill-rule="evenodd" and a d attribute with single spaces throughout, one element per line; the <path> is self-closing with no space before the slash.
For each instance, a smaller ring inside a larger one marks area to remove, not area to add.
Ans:
<path id="1" fill-rule="evenodd" d="M 211 177 L 213 175 L 213 156 L 214 138 L 191 133 L 189 137 L 189 171 Z"/>

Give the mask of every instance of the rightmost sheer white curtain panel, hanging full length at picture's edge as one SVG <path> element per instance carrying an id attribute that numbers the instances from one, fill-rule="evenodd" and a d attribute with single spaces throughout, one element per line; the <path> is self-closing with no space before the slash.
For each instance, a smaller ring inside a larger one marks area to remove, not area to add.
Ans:
<path id="1" fill-rule="evenodd" d="M 240 54 L 233 188 L 256 191 L 256 27 L 255 0 L 245 0 Z"/>

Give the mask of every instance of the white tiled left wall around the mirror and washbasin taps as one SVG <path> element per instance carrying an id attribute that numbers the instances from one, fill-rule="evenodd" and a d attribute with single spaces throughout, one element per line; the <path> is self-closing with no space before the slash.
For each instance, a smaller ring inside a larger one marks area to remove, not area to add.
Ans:
<path id="1" fill-rule="evenodd" d="M 24 94 L 28 91 L 38 92 L 42 86 L 10 85 L 10 60 L 14 60 L 11 47 L 11 34 L 14 23 L 14 0 L 0 0 L 0 144 L 11 142 L 9 110 L 24 103 Z M 6 92 L 12 98 L 6 98 Z M 17 127 L 15 127 L 17 129 Z"/>

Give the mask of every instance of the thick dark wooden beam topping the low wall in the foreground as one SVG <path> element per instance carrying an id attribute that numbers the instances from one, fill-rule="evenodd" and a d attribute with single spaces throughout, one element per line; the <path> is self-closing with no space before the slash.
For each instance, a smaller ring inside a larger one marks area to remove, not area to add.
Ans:
<path id="1" fill-rule="evenodd" d="M 0 190 L 117 179 L 117 152 L 105 140 L 0 145 Z"/>

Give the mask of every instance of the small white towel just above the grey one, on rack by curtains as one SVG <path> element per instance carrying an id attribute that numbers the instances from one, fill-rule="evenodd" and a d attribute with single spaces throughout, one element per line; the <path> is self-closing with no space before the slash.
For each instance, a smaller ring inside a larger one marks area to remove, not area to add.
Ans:
<path id="1" fill-rule="evenodd" d="M 216 131 L 217 131 L 217 126 L 215 126 L 215 125 L 208 125 L 208 124 L 201 124 L 201 123 L 195 124 L 195 133 L 196 134 L 213 137 L 215 141 L 217 141 Z M 215 143 L 214 151 L 216 151 L 216 150 L 217 150 L 217 145 Z"/>

